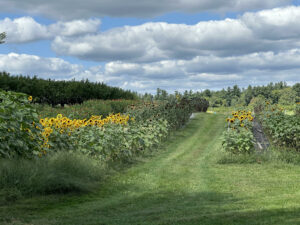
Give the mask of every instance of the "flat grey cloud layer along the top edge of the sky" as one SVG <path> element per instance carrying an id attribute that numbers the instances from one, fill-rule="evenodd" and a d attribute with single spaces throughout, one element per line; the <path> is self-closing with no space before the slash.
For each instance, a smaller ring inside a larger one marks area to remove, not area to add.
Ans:
<path id="1" fill-rule="evenodd" d="M 1 0 L 0 12 L 26 12 L 55 19 L 153 17 L 170 12 L 240 12 L 272 8 L 291 0 Z"/>

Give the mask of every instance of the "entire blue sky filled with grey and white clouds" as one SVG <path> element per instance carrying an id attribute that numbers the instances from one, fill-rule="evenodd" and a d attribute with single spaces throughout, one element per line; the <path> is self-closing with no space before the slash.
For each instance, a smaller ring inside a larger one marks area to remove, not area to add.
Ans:
<path id="1" fill-rule="evenodd" d="M 143 92 L 300 82 L 300 0 L 0 0 L 0 71 Z"/>

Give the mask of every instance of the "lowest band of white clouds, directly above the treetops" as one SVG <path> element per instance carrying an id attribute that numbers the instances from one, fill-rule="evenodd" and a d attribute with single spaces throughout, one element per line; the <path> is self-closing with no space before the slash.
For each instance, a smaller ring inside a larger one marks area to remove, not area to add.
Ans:
<path id="1" fill-rule="evenodd" d="M 282 60 L 283 58 L 287 60 Z M 213 70 L 213 67 L 226 69 Z M 155 92 L 157 87 L 168 91 L 220 89 L 233 84 L 247 86 L 249 83 L 258 85 L 282 80 L 290 83 L 300 82 L 300 49 L 278 54 L 253 53 L 243 57 L 215 56 L 208 61 L 205 61 L 204 57 L 195 57 L 192 60 L 139 64 L 109 62 L 104 67 L 90 68 L 59 58 L 10 53 L 0 54 L 0 71 L 8 71 L 11 74 L 36 74 L 39 77 L 58 80 L 89 79 L 138 92 Z"/>

